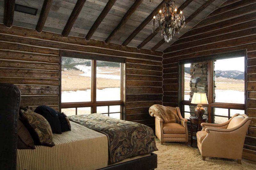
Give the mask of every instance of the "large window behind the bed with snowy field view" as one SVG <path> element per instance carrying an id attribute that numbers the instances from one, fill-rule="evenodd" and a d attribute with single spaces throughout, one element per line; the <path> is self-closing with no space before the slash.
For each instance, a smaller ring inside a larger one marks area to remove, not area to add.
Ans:
<path id="1" fill-rule="evenodd" d="M 123 63 L 124 59 L 61 53 L 61 111 L 121 119 Z"/>

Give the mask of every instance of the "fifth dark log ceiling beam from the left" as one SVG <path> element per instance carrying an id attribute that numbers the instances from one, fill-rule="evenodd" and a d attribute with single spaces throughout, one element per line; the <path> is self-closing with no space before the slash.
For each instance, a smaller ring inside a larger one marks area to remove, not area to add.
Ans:
<path id="1" fill-rule="evenodd" d="M 116 26 L 116 28 L 111 32 L 111 34 L 108 36 L 108 38 L 105 40 L 105 43 L 108 44 L 111 39 L 116 35 L 116 33 L 123 28 L 123 26 L 126 24 L 128 19 L 131 17 L 133 12 L 139 7 L 139 5 L 142 3 L 143 0 L 136 0 L 135 3 L 132 5 L 132 7 L 124 14 L 124 17 L 119 22 L 119 24 Z"/>

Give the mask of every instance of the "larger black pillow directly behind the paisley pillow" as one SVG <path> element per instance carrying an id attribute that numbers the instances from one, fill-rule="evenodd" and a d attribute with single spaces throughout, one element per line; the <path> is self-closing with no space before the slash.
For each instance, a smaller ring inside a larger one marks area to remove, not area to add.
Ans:
<path id="1" fill-rule="evenodd" d="M 34 111 L 42 115 L 50 124 L 52 133 L 61 134 L 61 124 L 58 117 L 58 112 L 49 106 L 41 105 Z"/>

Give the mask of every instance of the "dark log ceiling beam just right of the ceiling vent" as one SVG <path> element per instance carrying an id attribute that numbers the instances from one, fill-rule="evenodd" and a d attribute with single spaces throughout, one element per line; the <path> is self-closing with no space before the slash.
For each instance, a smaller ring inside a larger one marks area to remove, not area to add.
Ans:
<path id="1" fill-rule="evenodd" d="M 36 31 L 42 32 L 44 28 L 45 21 L 47 19 L 47 16 L 49 14 L 49 11 L 52 6 L 52 0 L 44 0 L 44 4 L 40 13 L 40 17 L 38 19 L 37 25 L 36 25 Z"/>

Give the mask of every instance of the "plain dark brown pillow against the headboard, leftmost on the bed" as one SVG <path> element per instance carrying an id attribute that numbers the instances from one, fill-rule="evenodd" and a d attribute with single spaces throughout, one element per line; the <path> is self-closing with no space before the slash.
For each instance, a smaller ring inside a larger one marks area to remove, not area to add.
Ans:
<path id="1" fill-rule="evenodd" d="M 17 138 L 17 148 L 18 149 L 36 149 L 34 145 L 34 140 L 31 137 L 28 129 L 18 118 L 18 138 Z"/>

